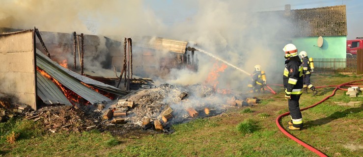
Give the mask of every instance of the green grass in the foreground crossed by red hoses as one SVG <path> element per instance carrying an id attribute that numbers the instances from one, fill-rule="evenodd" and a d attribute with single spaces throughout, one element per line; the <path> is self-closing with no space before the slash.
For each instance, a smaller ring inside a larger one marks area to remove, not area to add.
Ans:
<path id="1" fill-rule="evenodd" d="M 362 76 L 313 74 L 315 86 L 333 85 L 357 80 Z M 281 87 L 271 86 L 274 90 Z M 332 93 L 334 87 L 319 88 L 317 96 L 303 94 L 301 108 L 313 105 Z M 174 133 L 160 132 L 138 135 L 130 132 L 122 137 L 110 132 L 45 133 L 33 121 L 16 118 L 0 123 L 0 156 L 108 156 L 108 157 L 316 157 L 286 137 L 275 124 L 276 117 L 288 111 L 283 92 L 264 93 L 261 104 L 229 110 L 226 115 L 195 119 L 174 125 Z M 362 101 L 349 98 L 338 90 L 327 101 L 302 111 L 304 130 L 292 135 L 329 157 L 361 157 L 363 154 L 363 107 L 336 105 L 334 102 Z M 242 114 L 243 113 L 243 114 Z M 281 119 L 285 127 L 289 116 Z M 120 127 L 120 129 L 123 129 Z M 15 143 L 6 136 L 20 133 Z M 137 138 L 136 138 L 137 137 Z"/>

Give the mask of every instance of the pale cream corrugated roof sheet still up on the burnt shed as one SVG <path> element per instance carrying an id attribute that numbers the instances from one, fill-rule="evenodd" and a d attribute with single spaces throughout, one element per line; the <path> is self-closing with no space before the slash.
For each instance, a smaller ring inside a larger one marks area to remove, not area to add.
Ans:
<path id="1" fill-rule="evenodd" d="M 185 53 L 188 42 L 161 37 L 133 37 L 133 44 L 142 48 L 150 48 L 155 50 L 168 50 L 169 52 Z"/>

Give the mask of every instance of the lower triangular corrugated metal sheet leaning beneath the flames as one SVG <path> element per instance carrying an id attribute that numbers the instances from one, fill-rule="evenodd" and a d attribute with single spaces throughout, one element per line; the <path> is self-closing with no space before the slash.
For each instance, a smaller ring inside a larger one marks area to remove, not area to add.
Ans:
<path id="1" fill-rule="evenodd" d="M 39 72 L 36 73 L 36 81 L 38 96 L 45 104 L 72 105 L 58 87 Z"/>

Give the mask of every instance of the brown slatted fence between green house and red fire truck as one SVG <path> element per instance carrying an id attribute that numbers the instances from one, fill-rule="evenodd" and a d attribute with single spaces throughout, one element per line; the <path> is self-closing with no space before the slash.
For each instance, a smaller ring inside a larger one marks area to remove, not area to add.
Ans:
<path id="1" fill-rule="evenodd" d="M 314 58 L 314 72 L 357 73 L 357 55 L 347 58 Z"/>

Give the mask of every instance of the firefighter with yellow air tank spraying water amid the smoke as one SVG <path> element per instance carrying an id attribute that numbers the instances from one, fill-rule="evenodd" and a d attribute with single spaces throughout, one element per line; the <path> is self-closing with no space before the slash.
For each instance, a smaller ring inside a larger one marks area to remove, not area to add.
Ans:
<path id="1" fill-rule="evenodd" d="M 266 85 L 266 75 L 265 72 L 261 70 L 261 65 L 255 65 L 254 70 L 251 75 L 251 83 L 248 87 L 251 89 L 251 93 L 259 93 L 264 90 Z"/>

